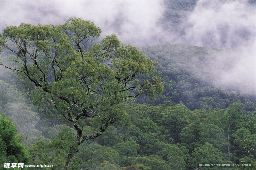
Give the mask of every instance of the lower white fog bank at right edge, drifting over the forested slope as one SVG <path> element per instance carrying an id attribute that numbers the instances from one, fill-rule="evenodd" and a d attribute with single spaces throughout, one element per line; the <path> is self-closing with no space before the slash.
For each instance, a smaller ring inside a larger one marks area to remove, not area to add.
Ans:
<path id="1" fill-rule="evenodd" d="M 256 96 L 256 46 L 251 49 L 212 51 L 204 71 L 199 72 L 208 83 Z"/>

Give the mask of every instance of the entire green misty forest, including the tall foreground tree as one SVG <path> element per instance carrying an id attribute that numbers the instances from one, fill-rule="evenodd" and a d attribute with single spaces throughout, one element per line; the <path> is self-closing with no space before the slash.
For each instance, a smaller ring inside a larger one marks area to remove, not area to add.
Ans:
<path id="1" fill-rule="evenodd" d="M 164 1 L 159 24 L 182 34 L 196 2 Z M 210 69 L 237 49 L 135 48 L 100 33 L 77 17 L 3 30 L 0 169 L 256 169 L 256 92 Z"/>

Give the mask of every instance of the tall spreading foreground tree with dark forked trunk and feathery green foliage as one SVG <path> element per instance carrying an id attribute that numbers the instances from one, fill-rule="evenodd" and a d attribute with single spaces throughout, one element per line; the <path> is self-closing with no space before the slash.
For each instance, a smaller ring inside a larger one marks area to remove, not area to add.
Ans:
<path id="1" fill-rule="evenodd" d="M 114 34 L 96 43 L 100 33 L 93 22 L 76 17 L 58 26 L 22 23 L 3 30 L 0 46 L 11 51 L 14 55 L 9 58 L 22 66 L 0 64 L 42 89 L 35 103 L 50 100 L 77 132 L 65 169 L 85 140 L 99 137 L 113 123 L 131 126 L 123 101 L 142 94 L 154 100 L 163 91 L 161 78 L 154 76 L 156 62 Z M 151 80 L 138 79 L 142 76 Z M 86 119 L 93 119 L 91 134 L 83 132 Z"/>

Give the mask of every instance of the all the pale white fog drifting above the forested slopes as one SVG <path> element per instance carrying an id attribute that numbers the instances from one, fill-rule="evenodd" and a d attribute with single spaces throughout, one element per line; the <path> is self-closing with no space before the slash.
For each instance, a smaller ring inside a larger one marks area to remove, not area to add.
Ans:
<path id="1" fill-rule="evenodd" d="M 212 83 L 256 91 L 256 8 L 247 0 L 198 0 L 193 9 L 178 11 L 177 27 L 167 23 L 171 21 L 164 16 L 167 9 L 166 1 L 162 0 L 1 0 L 0 3 L 1 30 L 21 22 L 60 24 L 70 16 L 77 16 L 93 21 L 102 29 L 102 36 L 116 33 L 122 42 L 135 46 L 179 42 L 232 48 L 211 54 L 212 61 L 206 67 L 214 77 Z"/>

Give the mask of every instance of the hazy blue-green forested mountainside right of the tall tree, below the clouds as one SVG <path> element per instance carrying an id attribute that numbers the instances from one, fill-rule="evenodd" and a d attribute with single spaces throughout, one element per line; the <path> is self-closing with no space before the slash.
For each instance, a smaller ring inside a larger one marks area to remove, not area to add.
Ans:
<path id="1" fill-rule="evenodd" d="M 242 103 L 244 114 L 250 115 L 256 111 L 255 93 L 248 93 L 237 85 L 220 86 L 214 82 L 215 76 L 219 75 L 210 73 L 213 70 L 212 55 L 209 54 L 217 55 L 225 50 L 166 43 L 141 48 L 141 51 L 151 60 L 157 61 L 157 75 L 162 77 L 165 88 L 156 101 L 149 102 L 146 98 L 140 98 L 140 103 L 156 106 L 167 100 L 184 104 L 190 110 L 202 107 L 226 109 L 230 103 Z"/>

